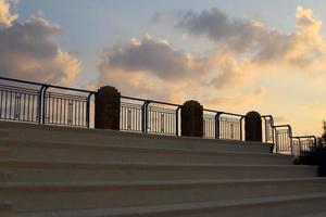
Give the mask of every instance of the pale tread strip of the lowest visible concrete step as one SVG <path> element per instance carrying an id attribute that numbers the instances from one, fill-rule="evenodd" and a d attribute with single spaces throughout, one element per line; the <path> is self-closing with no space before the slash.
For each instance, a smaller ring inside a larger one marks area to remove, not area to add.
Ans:
<path id="1" fill-rule="evenodd" d="M 309 194 L 294 194 L 286 196 L 269 196 L 269 197 L 254 197 L 242 200 L 225 200 L 225 201 L 208 201 L 208 202 L 190 202 L 164 205 L 149 205 L 149 206 L 134 206 L 134 207 L 117 207 L 117 208 L 90 208 L 90 209 L 66 209 L 66 210 L 47 210 L 38 213 L 24 213 L 16 215 L 9 215 L 10 217 L 105 217 L 105 216 L 141 216 L 141 215 L 159 215 L 171 213 L 190 213 L 204 209 L 222 209 L 222 208 L 236 208 L 249 207 L 253 205 L 265 204 L 280 204 L 289 202 L 299 202 L 308 200 L 324 200 L 326 192 L 323 193 L 309 193 Z M 325 208 L 326 209 L 326 208 Z"/>

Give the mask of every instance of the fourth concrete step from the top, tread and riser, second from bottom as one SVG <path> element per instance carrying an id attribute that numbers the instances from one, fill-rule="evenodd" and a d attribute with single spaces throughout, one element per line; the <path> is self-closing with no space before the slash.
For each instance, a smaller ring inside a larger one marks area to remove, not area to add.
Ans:
<path id="1" fill-rule="evenodd" d="M 326 192 L 326 179 L 0 183 L 14 212 L 114 208 Z"/>

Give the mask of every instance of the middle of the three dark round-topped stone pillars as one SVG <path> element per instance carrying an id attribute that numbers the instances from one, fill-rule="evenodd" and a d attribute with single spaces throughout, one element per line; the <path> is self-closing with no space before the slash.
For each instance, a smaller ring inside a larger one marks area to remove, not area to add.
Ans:
<path id="1" fill-rule="evenodd" d="M 187 101 L 181 106 L 181 136 L 203 137 L 203 107 L 197 101 Z"/>

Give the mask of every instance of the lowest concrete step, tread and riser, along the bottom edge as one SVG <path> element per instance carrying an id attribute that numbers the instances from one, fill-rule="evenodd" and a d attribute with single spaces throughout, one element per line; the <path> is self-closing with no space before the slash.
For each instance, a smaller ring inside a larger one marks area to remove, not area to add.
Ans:
<path id="1" fill-rule="evenodd" d="M 210 201 L 123 208 L 49 210 L 8 217 L 289 217 L 325 210 L 326 194 L 300 194 L 233 201 Z"/>

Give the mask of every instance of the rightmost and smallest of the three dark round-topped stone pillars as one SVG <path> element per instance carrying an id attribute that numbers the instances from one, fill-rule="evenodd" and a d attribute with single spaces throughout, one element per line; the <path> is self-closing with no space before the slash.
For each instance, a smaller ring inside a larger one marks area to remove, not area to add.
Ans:
<path id="1" fill-rule="evenodd" d="M 258 112 L 249 112 L 244 117 L 246 141 L 263 141 L 262 118 Z"/>

